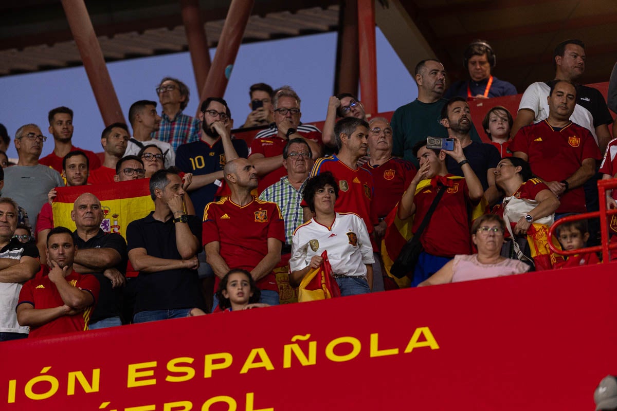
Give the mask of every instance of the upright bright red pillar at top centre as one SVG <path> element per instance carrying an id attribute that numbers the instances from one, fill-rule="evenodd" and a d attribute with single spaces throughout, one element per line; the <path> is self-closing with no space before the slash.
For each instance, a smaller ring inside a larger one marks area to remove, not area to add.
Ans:
<path id="1" fill-rule="evenodd" d="M 360 47 L 360 99 L 366 113 L 377 109 L 377 52 L 375 46 L 375 0 L 358 0 Z"/>

